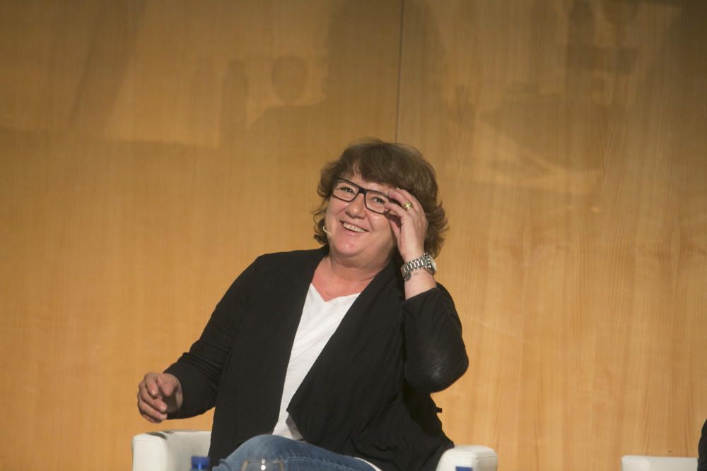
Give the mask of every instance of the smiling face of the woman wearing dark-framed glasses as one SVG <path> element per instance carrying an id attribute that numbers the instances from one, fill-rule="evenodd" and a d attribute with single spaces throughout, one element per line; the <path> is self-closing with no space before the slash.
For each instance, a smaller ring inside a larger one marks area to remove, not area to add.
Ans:
<path id="1" fill-rule="evenodd" d="M 347 179 L 367 190 L 387 194 L 392 189 L 389 185 L 365 181 L 358 175 Z M 388 216 L 366 208 L 363 198 L 363 193 L 358 193 L 350 202 L 329 198 L 325 215 L 325 225 L 331 233 L 327 234 L 329 253 L 361 268 L 382 266 L 395 248 L 395 238 Z"/>

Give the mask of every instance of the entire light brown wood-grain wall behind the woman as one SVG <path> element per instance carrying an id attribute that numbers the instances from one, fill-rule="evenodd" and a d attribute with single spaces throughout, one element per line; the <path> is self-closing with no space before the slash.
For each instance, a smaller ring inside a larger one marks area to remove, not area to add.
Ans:
<path id="1" fill-rule="evenodd" d="M 2 469 L 129 469 L 144 371 L 255 256 L 315 246 L 321 165 L 416 145 L 501 471 L 696 455 L 707 2 L 0 3 Z M 211 415 L 166 427 L 208 428 Z"/>

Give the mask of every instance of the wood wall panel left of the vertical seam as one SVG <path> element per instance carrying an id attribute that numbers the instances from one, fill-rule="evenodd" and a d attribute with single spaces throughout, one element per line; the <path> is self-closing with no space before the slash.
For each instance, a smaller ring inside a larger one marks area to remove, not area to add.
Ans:
<path id="1" fill-rule="evenodd" d="M 320 167 L 395 136 L 399 1 L 0 5 L 2 469 L 124 470 L 136 383 L 255 256 L 316 246 Z"/>

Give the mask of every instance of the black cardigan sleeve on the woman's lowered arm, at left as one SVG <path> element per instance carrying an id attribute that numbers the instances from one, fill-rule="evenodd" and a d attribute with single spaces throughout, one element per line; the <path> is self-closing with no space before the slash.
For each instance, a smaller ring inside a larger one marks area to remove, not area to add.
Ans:
<path id="1" fill-rule="evenodd" d="M 199 340 L 165 370 L 179 379 L 183 398 L 181 409 L 168 418 L 194 417 L 214 407 L 221 372 L 247 309 L 256 265 L 257 261 L 236 278 L 216 305 Z"/>

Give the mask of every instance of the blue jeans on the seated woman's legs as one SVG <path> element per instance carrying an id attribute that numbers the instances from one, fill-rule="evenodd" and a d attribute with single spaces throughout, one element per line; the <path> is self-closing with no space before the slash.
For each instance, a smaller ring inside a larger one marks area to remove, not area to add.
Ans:
<path id="1" fill-rule="evenodd" d="M 280 460 L 284 471 L 373 471 L 368 463 L 351 456 L 278 435 L 254 436 L 211 471 L 240 471 L 246 460 L 259 463 L 263 458 Z"/>

